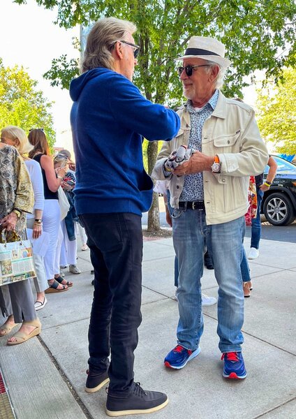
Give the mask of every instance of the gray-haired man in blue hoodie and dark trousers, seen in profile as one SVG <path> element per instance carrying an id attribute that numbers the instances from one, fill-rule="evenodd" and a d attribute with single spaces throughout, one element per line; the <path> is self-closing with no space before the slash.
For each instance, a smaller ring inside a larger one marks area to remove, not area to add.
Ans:
<path id="1" fill-rule="evenodd" d="M 70 87 L 75 207 L 95 272 L 86 390 L 96 392 L 110 379 L 109 416 L 150 413 L 168 404 L 165 394 L 134 382 L 133 352 L 142 319 L 141 216 L 153 189 L 142 139 L 170 140 L 179 117 L 147 101 L 131 82 L 139 52 L 135 29 L 114 17 L 98 20 L 89 32 L 82 75 Z"/>

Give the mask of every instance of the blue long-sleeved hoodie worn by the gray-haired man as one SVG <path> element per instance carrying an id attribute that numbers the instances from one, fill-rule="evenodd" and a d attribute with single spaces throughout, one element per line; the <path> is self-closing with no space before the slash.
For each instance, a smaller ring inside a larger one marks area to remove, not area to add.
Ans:
<path id="1" fill-rule="evenodd" d="M 147 101 L 132 82 L 108 68 L 72 80 L 70 95 L 77 214 L 142 215 L 153 189 L 143 166 L 142 138 L 170 140 L 179 131 L 179 117 Z"/>

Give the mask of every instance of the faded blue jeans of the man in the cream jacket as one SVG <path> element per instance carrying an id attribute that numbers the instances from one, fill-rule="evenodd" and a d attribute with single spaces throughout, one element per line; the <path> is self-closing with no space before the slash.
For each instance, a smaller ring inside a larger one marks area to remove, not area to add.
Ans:
<path id="1" fill-rule="evenodd" d="M 244 230 L 244 216 L 228 223 L 207 226 L 205 211 L 174 211 L 172 237 L 179 262 L 177 341 L 186 349 L 194 351 L 198 348 L 204 328 L 200 279 L 205 239 L 208 239 L 212 246 L 214 272 L 219 284 L 219 349 L 221 352 L 242 350 L 244 293 L 240 264 Z"/>

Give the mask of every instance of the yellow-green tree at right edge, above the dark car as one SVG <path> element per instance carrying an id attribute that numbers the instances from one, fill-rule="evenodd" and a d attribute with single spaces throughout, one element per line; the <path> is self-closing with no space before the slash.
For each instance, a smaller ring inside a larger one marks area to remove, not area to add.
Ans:
<path id="1" fill-rule="evenodd" d="M 274 143 L 276 152 L 296 154 L 296 69 L 285 68 L 277 85 L 269 80 L 257 92 L 262 137 Z"/>

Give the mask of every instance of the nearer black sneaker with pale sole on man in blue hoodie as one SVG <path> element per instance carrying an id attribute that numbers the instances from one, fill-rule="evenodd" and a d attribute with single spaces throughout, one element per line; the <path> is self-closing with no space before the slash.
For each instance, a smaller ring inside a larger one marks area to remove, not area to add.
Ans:
<path id="1" fill-rule="evenodd" d="M 108 394 L 106 412 L 108 416 L 137 415 L 153 413 L 168 404 L 168 396 L 161 392 L 147 391 L 135 383 L 135 388 L 128 397 Z"/>

